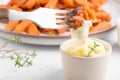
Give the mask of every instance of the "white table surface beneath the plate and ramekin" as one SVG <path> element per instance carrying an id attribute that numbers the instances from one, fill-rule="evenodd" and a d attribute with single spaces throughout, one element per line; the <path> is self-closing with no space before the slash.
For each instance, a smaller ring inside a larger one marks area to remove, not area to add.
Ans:
<path id="1" fill-rule="evenodd" d="M 100 37 L 113 47 L 108 74 L 105 80 L 120 80 L 120 48 L 116 29 L 93 37 Z M 0 38 L 2 45 L 5 40 Z M 38 56 L 32 67 L 15 68 L 14 62 L 0 60 L 0 80 L 68 80 L 63 72 L 59 46 L 43 46 L 10 43 L 9 48 L 18 47 L 24 51 L 36 50 Z"/>

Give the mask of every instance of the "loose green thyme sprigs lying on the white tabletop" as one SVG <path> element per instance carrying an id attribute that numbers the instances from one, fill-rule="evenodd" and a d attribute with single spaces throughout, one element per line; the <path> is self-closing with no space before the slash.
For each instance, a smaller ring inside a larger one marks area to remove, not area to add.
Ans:
<path id="1" fill-rule="evenodd" d="M 36 51 L 29 53 L 20 52 L 19 49 L 5 49 L 10 41 L 13 41 L 16 44 L 22 42 L 21 38 L 16 35 L 12 38 L 7 38 L 6 42 L 0 48 L 0 58 L 14 60 L 15 62 L 14 66 L 18 68 L 24 66 L 32 66 L 32 62 L 34 58 L 37 56 Z"/>

